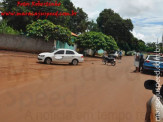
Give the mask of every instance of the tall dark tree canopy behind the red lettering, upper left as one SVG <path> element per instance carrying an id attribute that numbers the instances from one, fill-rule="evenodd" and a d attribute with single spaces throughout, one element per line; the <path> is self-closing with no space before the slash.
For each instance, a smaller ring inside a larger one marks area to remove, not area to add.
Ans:
<path id="1" fill-rule="evenodd" d="M 19 0 L 20 2 L 37 2 L 38 0 Z M 46 0 L 46 2 L 55 2 L 56 0 Z M 40 0 L 40 2 L 45 2 Z M 3 12 L 69 12 L 72 10 L 77 12 L 76 16 L 60 16 L 54 17 L 40 16 L 39 19 L 48 19 L 55 25 L 61 25 L 69 28 L 74 33 L 82 33 L 87 29 L 88 15 L 81 9 L 75 8 L 70 0 L 59 0 L 61 6 L 17 6 L 17 0 L 3 0 Z M 3 16 L 4 19 L 8 20 L 8 24 L 17 30 L 26 30 L 26 25 L 31 24 L 32 21 L 37 21 L 36 16 Z"/>

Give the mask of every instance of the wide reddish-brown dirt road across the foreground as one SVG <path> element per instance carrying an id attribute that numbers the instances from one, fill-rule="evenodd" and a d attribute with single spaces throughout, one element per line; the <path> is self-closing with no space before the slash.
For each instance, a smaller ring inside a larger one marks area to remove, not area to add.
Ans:
<path id="1" fill-rule="evenodd" d="M 133 57 L 115 67 L 94 58 L 45 65 L 0 51 L 0 122 L 144 122 L 152 92 L 143 85 L 155 76 L 133 71 Z"/>

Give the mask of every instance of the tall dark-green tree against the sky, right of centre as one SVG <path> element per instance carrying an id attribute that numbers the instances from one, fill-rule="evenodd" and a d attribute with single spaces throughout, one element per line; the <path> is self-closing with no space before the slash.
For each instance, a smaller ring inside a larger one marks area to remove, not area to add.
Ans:
<path id="1" fill-rule="evenodd" d="M 124 48 L 122 43 L 130 45 L 133 24 L 130 19 L 123 19 L 118 13 L 111 9 L 104 9 L 97 18 L 97 24 L 101 32 L 111 35 L 120 48 Z M 125 46 L 125 47 L 126 47 Z"/>

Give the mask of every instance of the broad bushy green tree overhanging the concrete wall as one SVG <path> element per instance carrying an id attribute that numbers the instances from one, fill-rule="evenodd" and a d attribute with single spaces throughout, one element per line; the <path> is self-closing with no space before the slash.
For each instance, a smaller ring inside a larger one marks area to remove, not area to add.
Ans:
<path id="1" fill-rule="evenodd" d="M 37 20 L 27 25 L 27 36 L 42 38 L 46 41 L 59 40 L 67 42 L 69 45 L 73 44 L 69 29 L 54 25 L 49 20 Z"/>

